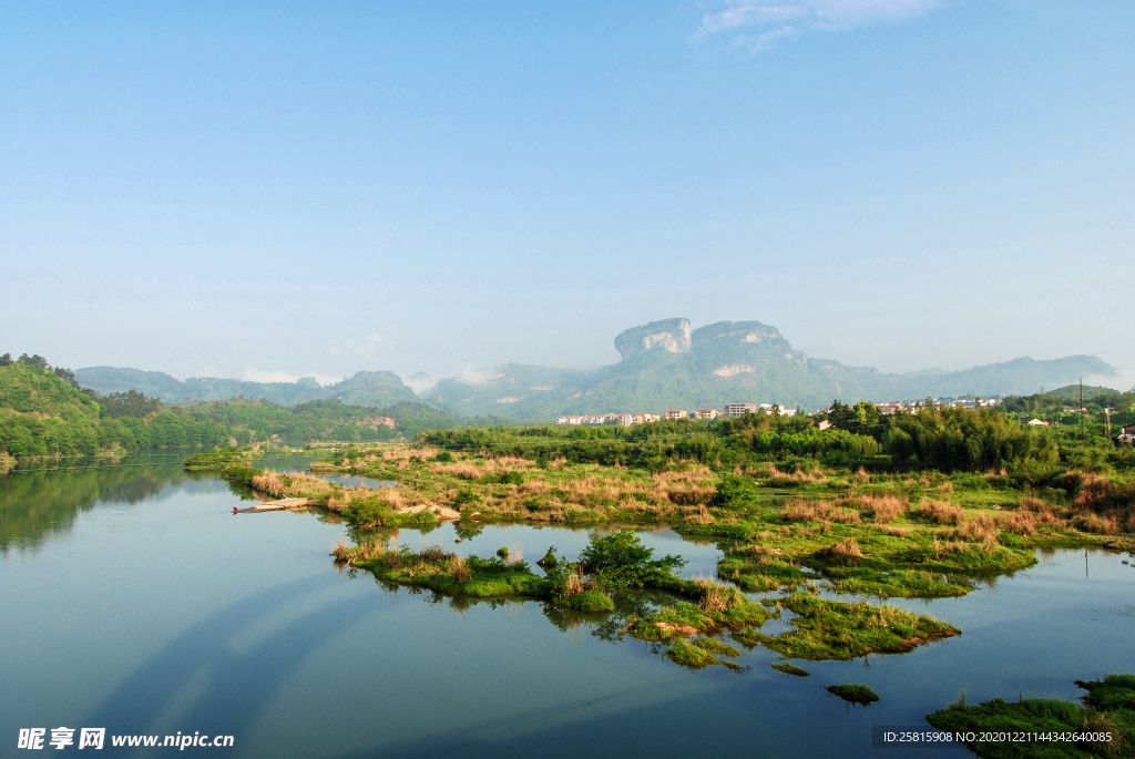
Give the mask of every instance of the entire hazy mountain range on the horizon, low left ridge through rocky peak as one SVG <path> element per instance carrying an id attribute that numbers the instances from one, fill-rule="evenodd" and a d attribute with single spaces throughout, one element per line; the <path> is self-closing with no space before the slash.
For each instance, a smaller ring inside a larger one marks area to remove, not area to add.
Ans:
<path id="1" fill-rule="evenodd" d="M 79 369 L 76 377 L 84 387 L 101 393 L 136 389 L 167 403 L 244 396 L 286 405 L 334 398 L 353 405 L 389 406 L 418 399 L 468 416 L 550 420 L 561 414 L 720 408 L 737 402 L 777 403 L 809 411 L 833 398 L 854 403 L 1031 394 L 1042 386 L 1060 387 L 1082 377 L 1099 379 L 1117 373 L 1102 360 L 1085 355 L 1015 359 L 956 372 L 882 373 L 812 359 L 793 348 L 775 327 L 757 321 L 691 329 L 687 319 L 665 319 L 623 331 L 615 338 L 615 348 L 621 361 L 592 371 L 501 364 L 476 377 L 440 380 L 419 394 L 389 371 L 363 371 L 325 387 L 313 378 L 296 382 L 183 381 L 162 372 L 112 366 Z"/>

